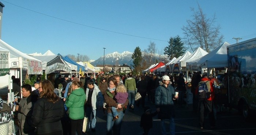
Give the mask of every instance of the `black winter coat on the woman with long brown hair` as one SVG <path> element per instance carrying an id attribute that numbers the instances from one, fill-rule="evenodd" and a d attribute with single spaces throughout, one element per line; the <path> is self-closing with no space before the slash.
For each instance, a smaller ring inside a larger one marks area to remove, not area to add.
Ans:
<path id="1" fill-rule="evenodd" d="M 34 127 L 37 127 L 37 134 L 50 134 L 52 132 L 62 134 L 60 119 L 64 114 L 65 108 L 62 100 L 52 103 L 42 97 L 34 105 L 31 122 Z"/>

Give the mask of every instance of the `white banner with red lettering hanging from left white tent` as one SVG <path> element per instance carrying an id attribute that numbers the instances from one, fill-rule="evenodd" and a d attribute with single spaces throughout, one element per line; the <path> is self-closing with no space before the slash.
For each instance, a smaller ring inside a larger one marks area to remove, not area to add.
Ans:
<path id="1" fill-rule="evenodd" d="M 27 59 L 28 74 L 43 74 L 42 62 Z"/>

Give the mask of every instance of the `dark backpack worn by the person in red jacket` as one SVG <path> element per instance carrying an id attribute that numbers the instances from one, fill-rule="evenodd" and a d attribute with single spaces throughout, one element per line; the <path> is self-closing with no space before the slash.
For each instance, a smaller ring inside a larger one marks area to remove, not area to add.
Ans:
<path id="1" fill-rule="evenodd" d="M 208 81 L 206 81 L 208 82 Z M 197 98 L 198 100 L 207 100 L 211 96 L 211 91 L 208 91 L 206 82 L 199 82 L 198 85 L 198 93 L 197 93 Z"/>

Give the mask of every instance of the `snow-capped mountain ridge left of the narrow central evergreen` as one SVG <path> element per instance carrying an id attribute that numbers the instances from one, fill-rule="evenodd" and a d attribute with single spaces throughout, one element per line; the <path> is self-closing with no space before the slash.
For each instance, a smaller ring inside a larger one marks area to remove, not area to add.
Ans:
<path id="1" fill-rule="evenodd" d="M 91 62 L 92 65 L 103 65 L 103 56 L 95 60 L 94 62 Z M 123 53 L 118 53 L 117 51 L 106 54 L 105 55 L 105 64 L 110 65 L 131 65 L 132 64 L 132 53 L 129 51 L 124 51 Z"/>

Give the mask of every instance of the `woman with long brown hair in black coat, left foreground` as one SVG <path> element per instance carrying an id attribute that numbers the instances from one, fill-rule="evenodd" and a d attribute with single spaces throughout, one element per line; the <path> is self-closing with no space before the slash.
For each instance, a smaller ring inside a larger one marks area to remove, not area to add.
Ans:
<path id="1" fill-rule="evenodd" d="M 39 93 L 31 117 L 32 125 L 37 128 L 38 135 L 62 135 L 60 118 L 65 113 L 63 101 L 54 93 L 49 80 L 39 83 Z"/>

